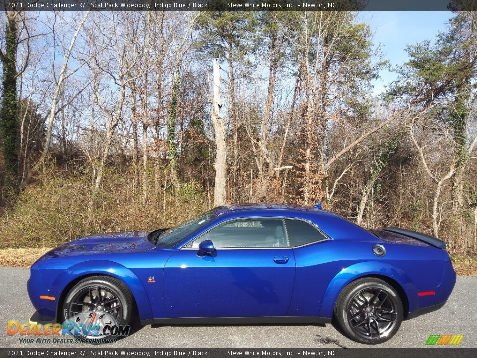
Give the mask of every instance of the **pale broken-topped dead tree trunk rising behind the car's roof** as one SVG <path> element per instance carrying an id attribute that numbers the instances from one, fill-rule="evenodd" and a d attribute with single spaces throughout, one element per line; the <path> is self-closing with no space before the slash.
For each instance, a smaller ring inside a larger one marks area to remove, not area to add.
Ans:
<path id="1" fill-rule="evenodd" d="M 220 117 L 222 102 L 220 99 L 220 73 L 219 64 L 214 59 L 214 85 L 212 90 L 211 119 L 215 131 L 216 159 L 215 186 L 214 186 L 214 206 L 226 203 L 226 179 L 227 179 L 227 142 L 225 136 L 224 121 Z"/>

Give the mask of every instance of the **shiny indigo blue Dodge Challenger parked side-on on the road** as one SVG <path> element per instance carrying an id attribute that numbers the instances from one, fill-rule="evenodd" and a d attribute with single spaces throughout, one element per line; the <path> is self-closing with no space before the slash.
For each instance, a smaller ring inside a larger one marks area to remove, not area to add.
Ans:
<path id="1" fill-rule="evenodd" d="M 92 235 L 31 267 L 33 321 L 107 312 L 127 325 L 329 323 L 377 344 L 441 308 L 456 281 L 445 243 L 365 230 L 320 207 L 216 207 L 175 228 Z"/>

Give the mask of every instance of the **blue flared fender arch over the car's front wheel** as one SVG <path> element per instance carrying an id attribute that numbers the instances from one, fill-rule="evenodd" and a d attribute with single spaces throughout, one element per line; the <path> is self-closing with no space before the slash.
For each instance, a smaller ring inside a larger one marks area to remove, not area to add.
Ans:
<path id="1" fill-rule="evenodd" d="M 129 289 L 136 302 L 139 318 L 152 318 L 151 302 L 139 278 L 130 269 L 113 261 L 88 260 L 70 266 L 55 278 L 51 285 L 51 291 L 57 292 L 64 297 L 64 290 L 71 282 L 83 276 L 92 275 L 110 276 L 121 281 Z M 60 300 L 57 303 L 57 314 L 60 308 L 58 307 L 59 304 Z"/>

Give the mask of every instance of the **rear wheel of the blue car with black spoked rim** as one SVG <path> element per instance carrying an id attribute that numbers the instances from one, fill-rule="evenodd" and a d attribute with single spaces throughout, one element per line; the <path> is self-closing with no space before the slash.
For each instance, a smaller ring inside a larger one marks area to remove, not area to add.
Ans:
<path id="1" fill-rule="evenodd" d="M 379 344 L 388 341 L 399 329 L 404 315 L 396 290 L 378 278 L 361 278 L 340 293 L 334 316 L 353 341 Z"/>

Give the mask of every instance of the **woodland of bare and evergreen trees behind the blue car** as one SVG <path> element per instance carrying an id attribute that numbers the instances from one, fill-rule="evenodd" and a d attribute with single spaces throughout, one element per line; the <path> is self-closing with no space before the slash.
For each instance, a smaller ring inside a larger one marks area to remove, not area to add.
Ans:
<path id="1" fill-rule="evenodd" d="M 0 263 L 322 202 L 477 274 L 477 13 L 449 14 L 395 65 L 353 11 L 2 13 Z"/>

